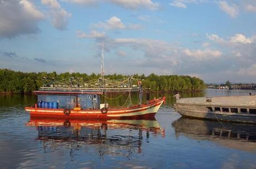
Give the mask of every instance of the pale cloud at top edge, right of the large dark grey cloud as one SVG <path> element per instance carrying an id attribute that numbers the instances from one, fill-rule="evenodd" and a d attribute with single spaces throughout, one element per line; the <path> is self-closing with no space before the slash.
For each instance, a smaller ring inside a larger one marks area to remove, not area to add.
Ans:
<path id="1" fill-rule="evenodd" d="M 57 29 L 65 29 L 68 18 L 70 18 L 72 14 L 63 9 L 57 0 L 41 0 L 41 2 L 50 8 L 52 25 Z"/>

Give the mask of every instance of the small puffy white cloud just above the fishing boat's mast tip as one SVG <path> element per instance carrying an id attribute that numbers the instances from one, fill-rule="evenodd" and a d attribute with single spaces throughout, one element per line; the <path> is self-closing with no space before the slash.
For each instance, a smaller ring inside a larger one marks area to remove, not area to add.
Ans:
<path id="1" fill-rule="evenodd" d="M 110 19 L 106 20 L 106 22 L 99 22 L 96 24 L 93 24 L 93 26 L 98 28 L 105 28 L 109 30 L 117 30 L 117 29 L 140 29 L 140 24 L 129 24 L 128 26 L 125 26 L 124 23 L 122 23 L 120 18 L 117 18 L 116 16 L 111 17 Z"/>

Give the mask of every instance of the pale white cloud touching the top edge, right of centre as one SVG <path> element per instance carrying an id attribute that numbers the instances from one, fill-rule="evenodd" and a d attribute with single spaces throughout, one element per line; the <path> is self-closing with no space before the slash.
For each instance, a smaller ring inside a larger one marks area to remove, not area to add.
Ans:
<path id="1" fill-rule="evenodd" d="M 111 3 L 117 4 L 127 9 L 147 8 L 150 10 L 159 9 L 160 5 L 151 0 L 109 0 Z"/>

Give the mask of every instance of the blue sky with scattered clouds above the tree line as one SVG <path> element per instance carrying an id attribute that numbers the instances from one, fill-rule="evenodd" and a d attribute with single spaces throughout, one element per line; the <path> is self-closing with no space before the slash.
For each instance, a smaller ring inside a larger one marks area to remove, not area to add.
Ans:
<path id="1" fill-rule="evenodd" d="M 256 0 L 0 0 L 0 68 L 256 82 Z"/>

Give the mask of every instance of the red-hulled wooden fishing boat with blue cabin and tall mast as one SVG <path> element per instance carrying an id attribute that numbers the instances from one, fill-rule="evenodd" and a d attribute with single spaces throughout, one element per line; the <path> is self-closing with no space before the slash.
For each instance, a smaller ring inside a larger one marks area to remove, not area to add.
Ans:
<path id="1" fill-rule="evenodd" d="M 142 82 L 133 77 L 114 81 L 105 78 L 104 45 L 102 45 L 101 74 L 99 79 L 83 81 L 83 79 L 68 78 L 60 81 L 51 81 L 45 78 L 46 83 L 38 91 L 33 91 L 38 97 L 35 106 L 25 107 L 31 117 L 51 118 L 94 118 L 94 119 L 141 119 L 154 118 L 156 112 L 165 101 L 163 98 L 154 98 L 142 103 L 144 91 Z M 137 84 L 134 84 L 134 82 Z M 139 103 L 133 105 L 131 92 L 138 92 Z M 127 95 L 125 103 L 114 107 L 107 103 L 108 93 L 119 93 L 116 98 Z M 103 101 L 101 101 L 103 98 Z"/>

